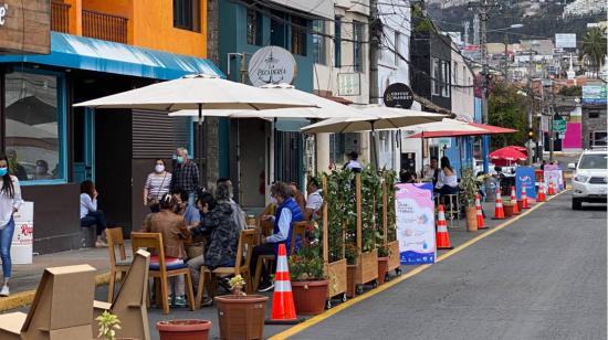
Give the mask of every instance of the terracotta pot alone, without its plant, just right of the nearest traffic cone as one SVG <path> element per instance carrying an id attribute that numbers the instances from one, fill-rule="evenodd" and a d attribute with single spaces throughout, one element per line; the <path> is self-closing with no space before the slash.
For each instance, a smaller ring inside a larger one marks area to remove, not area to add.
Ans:
<path id="1" fill-rule="evenodd" d="M 316 316 L 325 310 L 329 281 L 292 281 L 293 302 L 300 315 Z"/>

